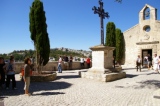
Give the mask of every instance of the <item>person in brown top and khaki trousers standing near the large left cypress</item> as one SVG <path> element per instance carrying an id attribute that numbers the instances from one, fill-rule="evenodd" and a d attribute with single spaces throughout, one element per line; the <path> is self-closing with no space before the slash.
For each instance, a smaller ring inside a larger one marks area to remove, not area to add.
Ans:
<path id="1" fill-rule="evenodd" d="M 23 76 L 23 79 L 24 79 L 24 82 L 25 82 L 25 85 L 24 85 L 24 90 L 25 90 L 25 95 L 27 96 L 30 96 L 31 94 L 29 93 L 29 86 L 30 86 L 30 71 L 31 71 L 31 60 L 30 58 L 26 58 L 24 60 L 24 76 Z"/>

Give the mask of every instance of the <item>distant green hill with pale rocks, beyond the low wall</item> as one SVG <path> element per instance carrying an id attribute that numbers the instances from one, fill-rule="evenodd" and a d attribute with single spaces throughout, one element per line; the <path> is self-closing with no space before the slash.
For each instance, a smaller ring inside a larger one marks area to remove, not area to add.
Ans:
<path id="1" fill-rule="evenodd" d="M 14 50 L 9 54 L 0 54 L 0 56 L 4 57 L 5 59 L 9 59 L 9 56 L 13 55 L 16 61 L 23 61 L 25 57 L 35 57 L 34 50 Z M 59 56 L 72 56 L 74 58 L 80 57 L 91 57 L 91 51 L 86 50 L 75 50 L 70 48 L 51 48 L 50 50 L 50 58 L 53 60 L 58 60 Z"/>

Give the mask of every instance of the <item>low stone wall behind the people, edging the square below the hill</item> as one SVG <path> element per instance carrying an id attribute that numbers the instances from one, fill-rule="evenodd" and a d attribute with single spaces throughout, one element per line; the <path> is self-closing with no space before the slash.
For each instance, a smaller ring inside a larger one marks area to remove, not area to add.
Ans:
<path id="1" fill-rule="evenodd" d="M 57 71 L 58 62 L 48 62 L 47 65 L 43 67 L 43 71 Z M 24 63 L 15 63 L 15 71 L 16 73 L 20 73 L 21 68 L 24 66 Z M 91 64 L 92 67 L 92 64 Z M 87 64 L 85 63 L 84 69 L 87 68 Z M 72 62 L 72 69 L 66 69 L 64 63 L 62 63 L 62 70 L 77 70 L 81 69 L 80 62 Z"/>

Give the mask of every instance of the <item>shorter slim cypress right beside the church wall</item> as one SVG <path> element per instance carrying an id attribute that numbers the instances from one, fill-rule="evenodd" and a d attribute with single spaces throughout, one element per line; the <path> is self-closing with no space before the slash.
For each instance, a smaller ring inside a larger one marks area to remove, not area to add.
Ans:
<path id="1" fill-rule="evenodd" d="M 123 33 L 120 29 L 116 29 L 116 61 L 120 62 L 124 52 Z"/>

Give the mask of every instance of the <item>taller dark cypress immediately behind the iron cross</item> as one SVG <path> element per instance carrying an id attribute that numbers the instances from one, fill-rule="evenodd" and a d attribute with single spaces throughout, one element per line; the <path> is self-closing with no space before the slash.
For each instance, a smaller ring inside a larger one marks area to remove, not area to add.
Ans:
<path id="1" fill-rule="evenodd" d="M 116 35 L 115 35 L 115 24 L 108 22 L 106 26 L 106 42 L 105 46 L 116 47 Z M 114 50 L 113 55 L 115 56 L 116 51 Z"/>

